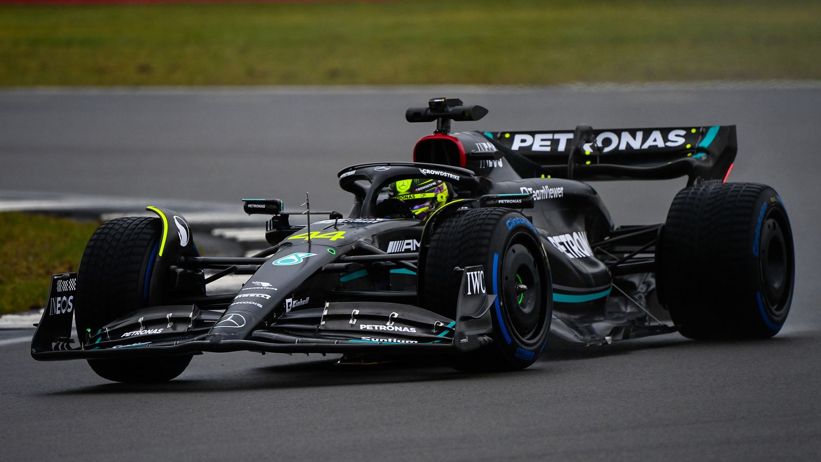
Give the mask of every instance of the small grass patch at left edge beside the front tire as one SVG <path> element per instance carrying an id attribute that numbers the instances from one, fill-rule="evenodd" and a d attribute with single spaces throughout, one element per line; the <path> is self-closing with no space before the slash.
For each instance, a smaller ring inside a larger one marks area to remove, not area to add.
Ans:
<path id="1" fill-rule="evenodd" d="M 76 271 L 99 223 L 0 213 L 0 314 L 43 307 L 50 276 Z"/>

